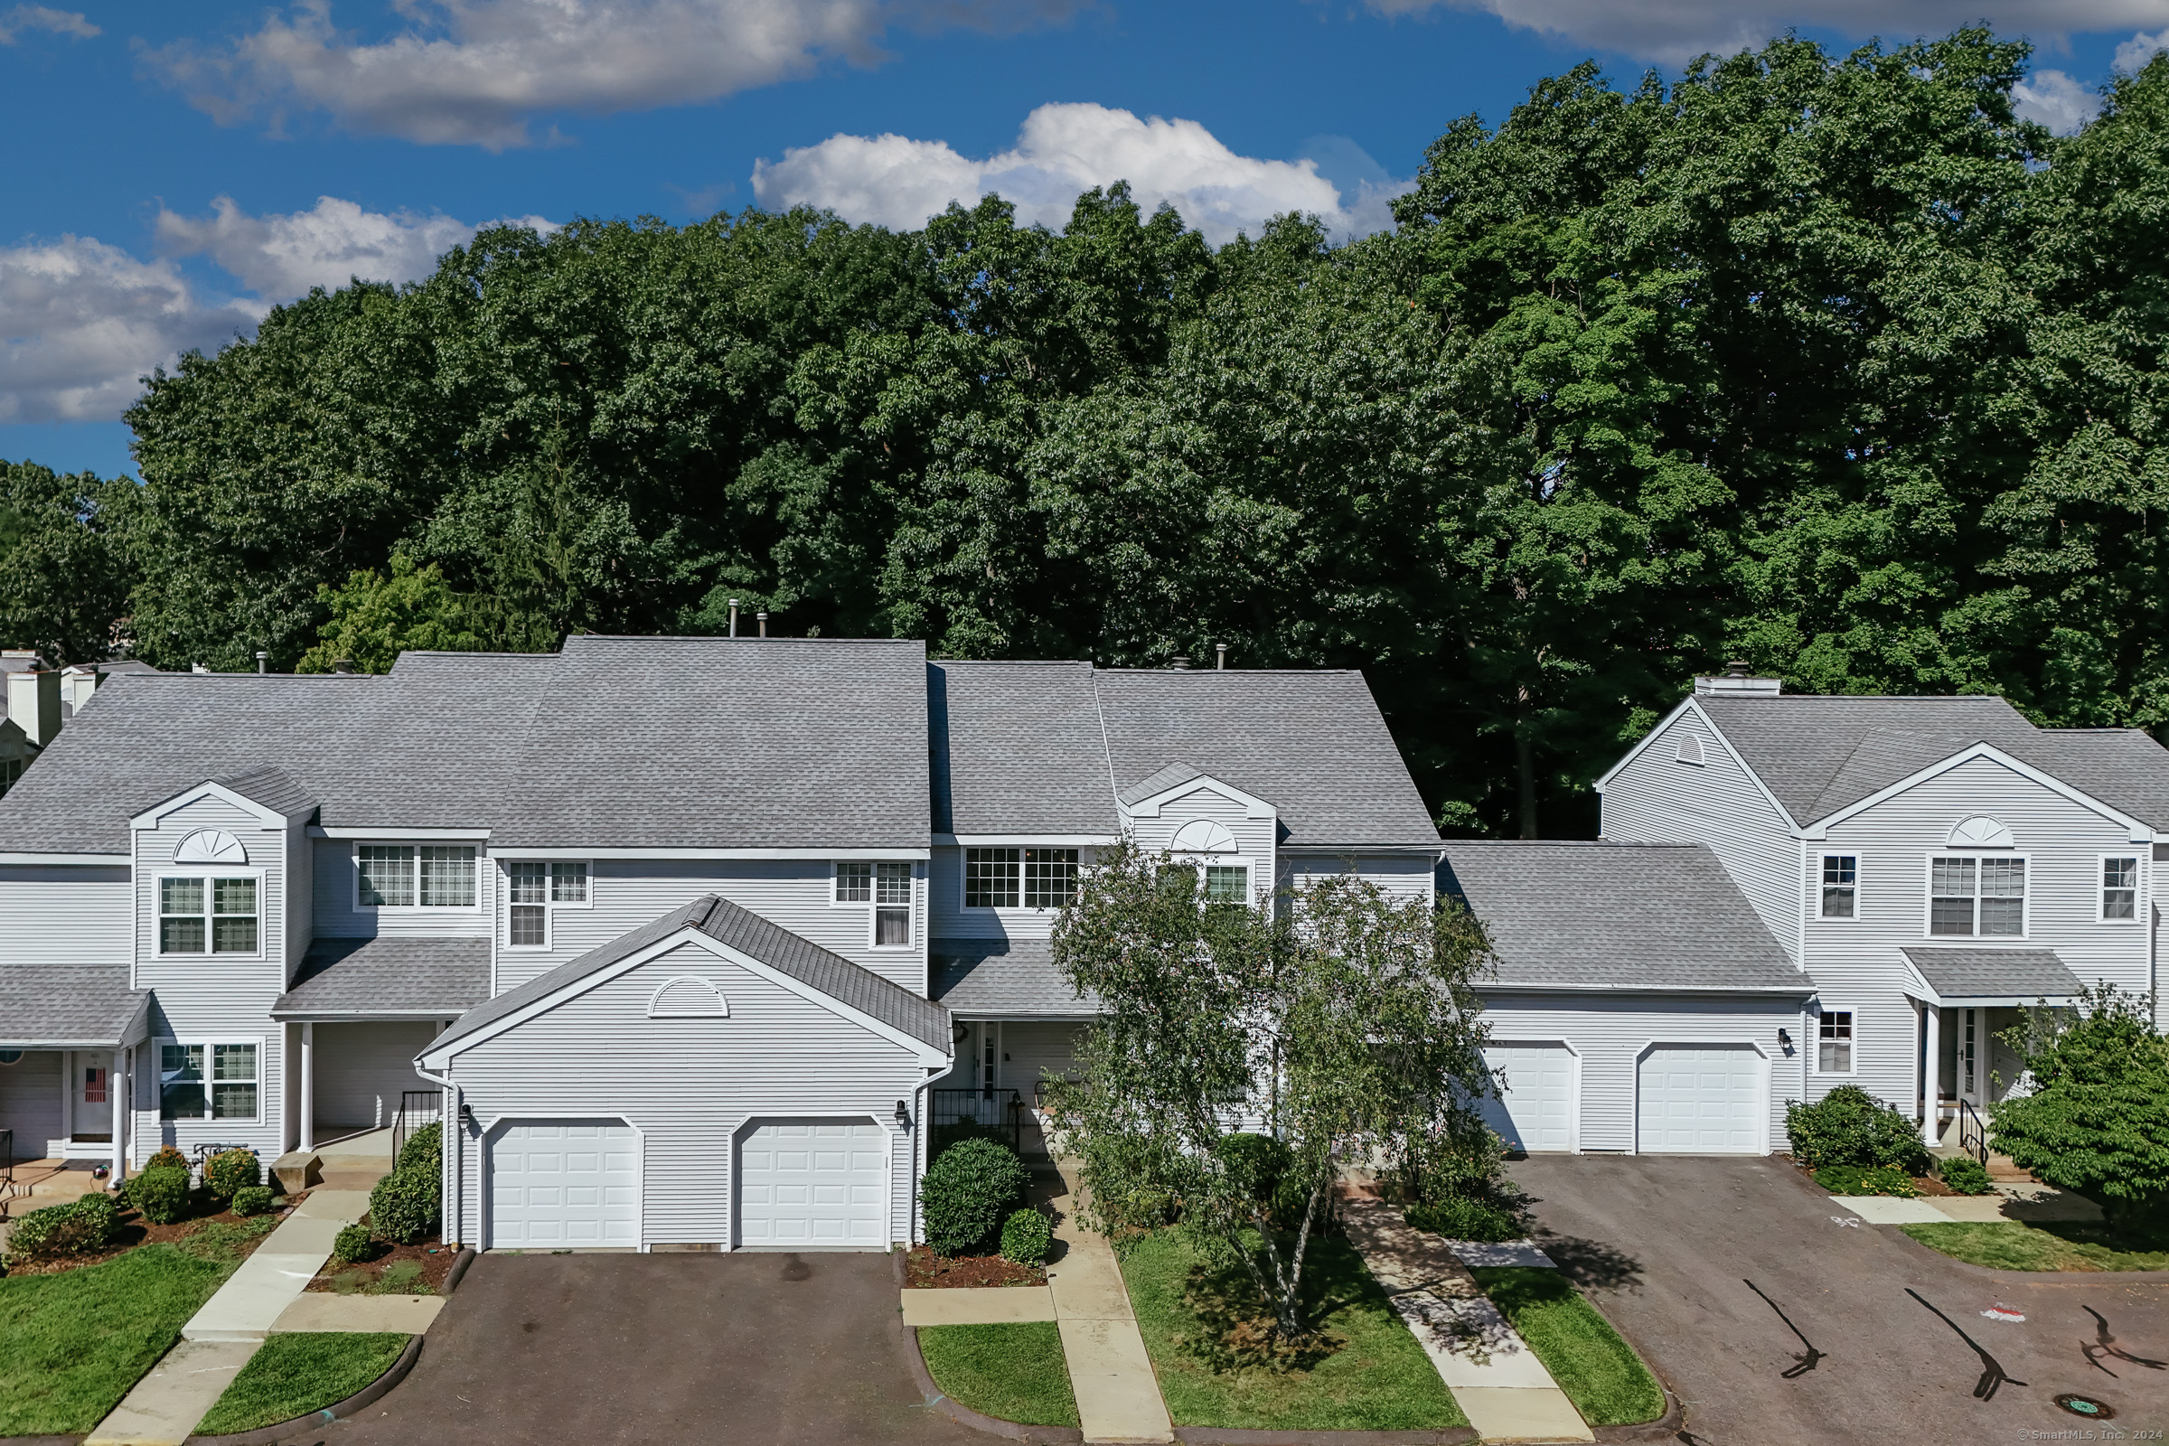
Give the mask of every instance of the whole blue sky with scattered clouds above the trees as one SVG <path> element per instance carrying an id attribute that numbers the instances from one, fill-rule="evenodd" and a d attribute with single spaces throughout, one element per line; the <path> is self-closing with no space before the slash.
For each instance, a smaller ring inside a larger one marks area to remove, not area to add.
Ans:
<path id="1" fill-rule="evenodd" d="M 2169 0 L 0 0 L 0 457 L 132 473 L 137 375 L 479 221 L 911 225 L 983 189 L 1058 219 L 1126 176 L 1212 238 L 1291 208 L 1353 234 L 1453 117 L 1583 56 L 1982 11 L 2035 39 L 2058 128 L 2169 39 Z"/>

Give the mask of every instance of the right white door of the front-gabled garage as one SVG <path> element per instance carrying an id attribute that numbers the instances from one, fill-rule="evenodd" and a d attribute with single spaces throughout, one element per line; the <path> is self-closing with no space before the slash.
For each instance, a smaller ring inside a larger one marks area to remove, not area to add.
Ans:
<path id="1" fill-rule="evenodd" d="M 737 1244 L 889 1249 L 889 1132 L 872 1121 L 759 1121 L 737 1145 Z"/>

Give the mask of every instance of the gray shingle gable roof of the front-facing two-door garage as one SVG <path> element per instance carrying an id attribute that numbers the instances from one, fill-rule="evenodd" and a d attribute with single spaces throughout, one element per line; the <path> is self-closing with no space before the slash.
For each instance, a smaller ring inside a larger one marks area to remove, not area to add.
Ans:
<path id="1" fill-rule="evenodd" d="M 497 995 L 488 1004 L 469 1010 L 445 1030 L 429 1045 L 432 1054 L 451 1045 L 475 1030 L 514 1015 L 536 999 L 547 999 L 566 984 L 577 984 L 579 980 L 601 973 L 612 965 L 631 958 L 649 945 L 657 945 L 672 934 L 696 928 L 709 939 L 724 943 L 740 954 L 748 954 L 770 969 L 779 969 L 790 978 L 818 989 L 839 1004 L 878 1019 L 904 1034 L 926 1041 L 939 1049 L 950 1049 L 950 1012 L 935 1004 L 933 999 L 922 999 L 902 984 L 894 984 L 872 969 L 850 963 L 839 954 L 803 939 L 787 928 L 779 928 L 757 913 L 740 908 L 737 904 L 718 898 L 714 893 L 703 893 L 690 904 L 672 908 L 653 924 L 644 924 L 629 934 L 620 934 L 605 945 L 588 950 L 579 958 L 557 965 L 549 973 L 540 973 L 518 989 Z"/>

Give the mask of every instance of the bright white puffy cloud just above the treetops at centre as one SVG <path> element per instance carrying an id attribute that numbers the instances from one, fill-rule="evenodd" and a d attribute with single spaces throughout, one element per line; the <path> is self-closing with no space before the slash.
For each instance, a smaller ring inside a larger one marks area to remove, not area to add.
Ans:
<path id="1" fill-rule="evenodd" d="M 1080 191 L 1130 182 L 1147 212 L 1169 202 L 1215 245 L 1256 234 L 1288 210 L 1325 219 L 1338 236 L 1384 230 L 1386 204 L 1410 182 L 1362 180 L 1343 195 L 1317 160 L 1238 156 L 1197 121 L 1139 119 L 1095 104 L 1048 104 L 1024 119 L 1015 147 L 970 160 L 946 141 L 833 134 L 753 169 L 761 206 L 820 206 L 850 221 L 917 228 L 950 202 L 1000 193 L 1017 221 L 1061 230 Z"/>

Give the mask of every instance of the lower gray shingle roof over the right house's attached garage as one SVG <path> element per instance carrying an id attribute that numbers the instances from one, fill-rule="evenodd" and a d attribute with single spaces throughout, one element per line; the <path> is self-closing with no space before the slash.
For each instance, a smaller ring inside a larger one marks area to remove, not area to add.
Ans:
<path id="1" fill-rule="evenodd" d="M 1499 984 L 1813 991 L 1700 843 L 1442 848 L 1440 882 L 1490 934 Z"/>

